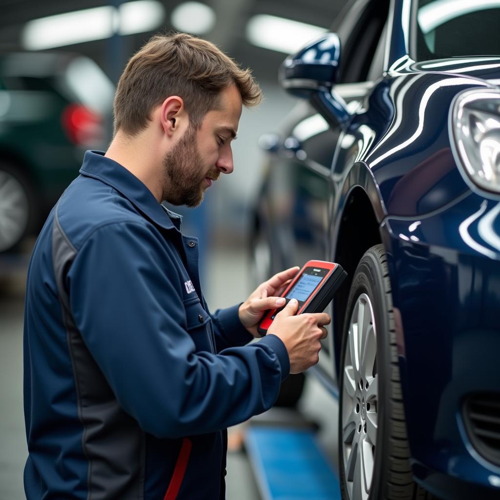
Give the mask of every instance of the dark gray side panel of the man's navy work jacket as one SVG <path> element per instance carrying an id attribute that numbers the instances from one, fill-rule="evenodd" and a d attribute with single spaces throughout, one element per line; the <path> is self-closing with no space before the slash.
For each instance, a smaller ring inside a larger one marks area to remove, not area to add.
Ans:
<path id="1" fill-rule="evenodd" d="M 77 330 L 64 279 L 76 249 L 62 230 L 57 207 L 52 229 L 52 262 L 66 327 L 82 448 L 88 460 L 87 500 L 144 497 L 145 438 L 137 422 L 120 406 Z"/>

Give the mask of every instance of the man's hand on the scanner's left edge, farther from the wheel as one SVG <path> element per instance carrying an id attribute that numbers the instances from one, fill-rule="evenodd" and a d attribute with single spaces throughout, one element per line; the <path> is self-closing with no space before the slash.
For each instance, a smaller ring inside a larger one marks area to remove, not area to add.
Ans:
<path id="1" fill-rule="evenodd" d="M 267 309 L 277 309 L 284 304 L 284 298 L 279 296 L 282 288 L 295 276 L 300 267 L 290 267 L 285 271 L 274 274 L 271 278 L 259 284 L 255 291 L 239 306 L 238 316 L 243 326 L 254 336 L 257 332 L 257 323 Z"/>

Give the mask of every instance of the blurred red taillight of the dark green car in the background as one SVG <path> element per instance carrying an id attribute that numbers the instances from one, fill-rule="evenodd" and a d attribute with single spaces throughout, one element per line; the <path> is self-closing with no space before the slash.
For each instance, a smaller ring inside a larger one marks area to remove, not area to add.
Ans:
<path id="1" fill-rule="evenodd" d="M 68 139 L 79 146 L 92 147 L 104 138 L 101 117 L 81 104 L 69 104 L 62 110 L 62 128 Z"/>

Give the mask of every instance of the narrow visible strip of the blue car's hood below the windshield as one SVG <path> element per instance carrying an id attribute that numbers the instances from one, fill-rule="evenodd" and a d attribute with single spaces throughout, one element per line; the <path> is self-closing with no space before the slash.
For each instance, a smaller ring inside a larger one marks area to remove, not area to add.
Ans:
<path id="1" fill-rule="evenodd" d="M 431 61 L 415 62 L 414 71 L 467 74 L 481 78 L 493 85 L 500 85 L 500 56 L 452 57 Z"/>

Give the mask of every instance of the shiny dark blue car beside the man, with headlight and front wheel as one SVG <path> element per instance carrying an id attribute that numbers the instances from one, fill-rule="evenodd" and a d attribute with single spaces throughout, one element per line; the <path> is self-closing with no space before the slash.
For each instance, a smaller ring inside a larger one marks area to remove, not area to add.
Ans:
<path id="1" fill-rule="evenodd" d="M 348 272 L 315 368 L 343 498 L 498 499 L 500 1 L 357 0 L 332 31 L 280 68 L 257 279 Z"/>

